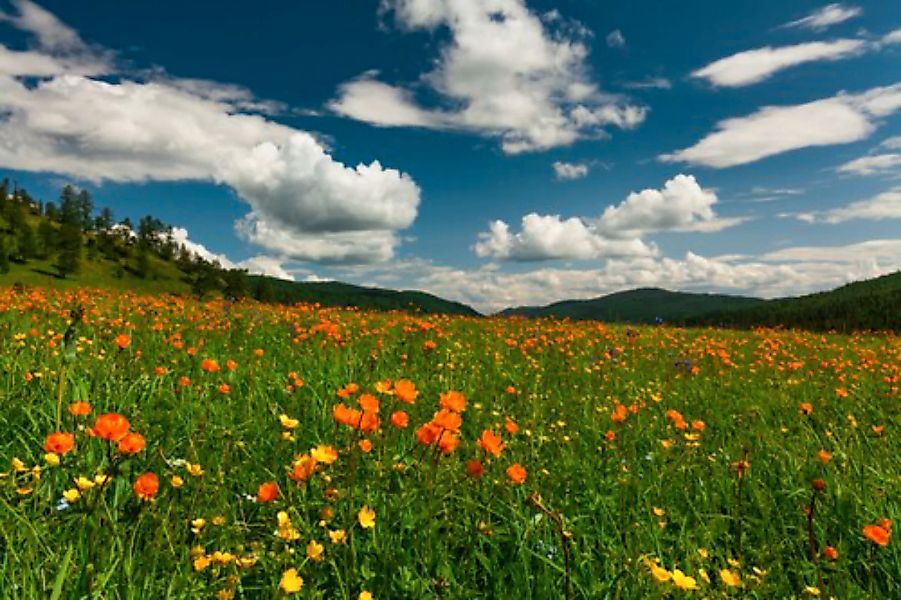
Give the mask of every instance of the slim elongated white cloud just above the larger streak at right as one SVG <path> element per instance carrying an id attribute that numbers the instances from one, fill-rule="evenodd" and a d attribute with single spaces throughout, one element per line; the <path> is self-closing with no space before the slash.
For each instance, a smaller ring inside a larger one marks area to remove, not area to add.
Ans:
<path id="1" fill-rule="evenodd" d="M 692 72 L 692 77 L 708 80 L 721 87 L 740 87 L 758 83 L 776 72 L 807 62 L 841 60 L 862 53 L 867 43 L 841 39 L 831 42 L 808 42 L 774 48 L 766 46 L 746 50 L 710 63 Z"/>

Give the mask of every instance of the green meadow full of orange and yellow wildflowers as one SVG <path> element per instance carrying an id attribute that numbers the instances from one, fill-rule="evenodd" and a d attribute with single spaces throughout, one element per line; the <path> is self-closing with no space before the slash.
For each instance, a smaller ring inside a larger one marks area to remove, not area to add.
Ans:
<path id="1" fill-rule="evenodd" d="M 11 598 L 901 597 L 901 341 L 0 288 Z"/>

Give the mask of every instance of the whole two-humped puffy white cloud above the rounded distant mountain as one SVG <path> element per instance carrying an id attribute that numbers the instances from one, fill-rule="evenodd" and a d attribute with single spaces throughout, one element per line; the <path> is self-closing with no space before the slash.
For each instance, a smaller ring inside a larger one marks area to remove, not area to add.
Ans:
<path id="1" fill-rule="evenodd" d="M 713 210 L 716 194 L 704 190 L 692 175 L 677 175 L 662 189 L 633 192 L 597 218 L 530 213 L 520 230 L 511 232 L 504 221 L 494 221 L 479 234 L 474 246 L 480 257 L 513 261 L 601 259 L 657 254 L 645 234 L 657 231 L 719 231 L 742 222 L 724 219 Z"/>

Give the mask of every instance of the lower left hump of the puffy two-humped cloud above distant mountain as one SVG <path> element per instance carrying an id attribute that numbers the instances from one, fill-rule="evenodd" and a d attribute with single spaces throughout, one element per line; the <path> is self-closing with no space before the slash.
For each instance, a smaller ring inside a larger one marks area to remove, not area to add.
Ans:
<path id="1" fill-rule="evenodd" d="M 475 252 L 480 257 L 520 262 L 576 259 L 589 260 L 609 256 L 653 256 L 654 246 L 638 238 L 605 237 L 592 224 L 573 217 L 530 213 L 522 218 L 521 229 L 511 233 L 503 221 L 491 223 L 488 232 L 479 234 Z"/>

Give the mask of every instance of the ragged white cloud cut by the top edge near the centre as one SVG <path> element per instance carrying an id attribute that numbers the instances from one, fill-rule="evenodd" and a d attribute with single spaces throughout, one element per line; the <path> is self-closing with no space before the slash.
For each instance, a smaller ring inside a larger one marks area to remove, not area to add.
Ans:
<path id="1" fill-rule="evenodd" d="M 370 71 L 338 89 L 334 112 L 378 126 L 471 131 L 501 139 L 510 154 L 572 144 L 631 129 L 647 109 L 604 93 L 588 75 L 583 27 L 529 11 L 524 0 L 383 0 L 383 15 L 405 31 L 449 30 L 434 69 L 419 87 L 392 85 Z"/>

